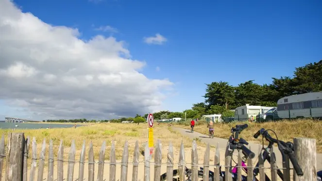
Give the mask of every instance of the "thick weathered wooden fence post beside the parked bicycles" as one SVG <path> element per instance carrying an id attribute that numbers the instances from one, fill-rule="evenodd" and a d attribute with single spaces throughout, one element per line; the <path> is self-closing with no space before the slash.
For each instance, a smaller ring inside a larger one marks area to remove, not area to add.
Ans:
<path id="1" fill-rule="evenodd" d="M 295 158 L 303 171 L 303 176 L 297 176 L 294 170 L 294 181 L 316 181 L 316 140 L 311 138 L 294 138 Z"/>

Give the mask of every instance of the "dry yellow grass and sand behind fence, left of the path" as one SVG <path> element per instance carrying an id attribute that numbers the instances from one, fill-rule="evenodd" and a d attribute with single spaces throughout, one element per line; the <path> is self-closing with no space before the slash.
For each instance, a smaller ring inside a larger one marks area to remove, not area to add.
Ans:
<path id="1" fill-rule="evenodd" d="M 87 124 L 88 125 L 88 124 Z M 68 159 L 68 152 L 72 140 L 75 140 L 76 144 L 76 160 L 80 158 L 80 153 L 83 145 L 83 141 L 86 142 L 86 156 L 87 160 L 89 142 L 93 143 L 94 158 L 99 158 L 99 151 L 102 146 L 102 142 L 106 142 L 105 160 L 109 160 L 109 153 L 111 149 L 112 140 L 116 145 L 116 159 L 119 160 L 122 156 L 123 146 L 127 140 L 129 143 L 129 159 L 133 158 L 135 142 L 138 140 L 140 145 L 140 151 L 144 150 L 144 144 L 148 141 L 147 138 L 147 124 L 124 124 L 124 123 L 96 123 L 88 126 L 82 126 L 75 128 L 59 128 L 59 129 L 38 129 L 38 130 L 0 130 L 0 134 L 4 134 L 5 143 L 7 144 L 7 135 L 9 132 L 24 132 L 25 136 L 30 136 L 32 139 L 35 137 L 37 143 L 37 155 L 39 156 L 41 150 L 41 144 L 46 139 L 46 157 L 48 156 L 49 140 L 53 141 L 54 157 L 57 157 L 57 152 L 60 144 L 60 140 L 63 140 L 64 145 L 64 159 Z M 174 148 L 180 148 L 181 141 L 183 141 L 185 148 L 190 148 L 192 140 L 186 136 L 181 135 L 178 132 L 172 131 L 171 128 L 165 124 L 155 125 L 153 128 L 154 143 L 157 139 L 160 139 L 163 148 L 168 148 L 171 141 Z M 205 144 L 200 141 L 197 143 L 199 147 L 205 147 Z M 30 150 L 32 147 L 30 146 Z M 167 151 L 163 151 L 165 157 Z M 32 153 L 29 151 L 29 156 Z M 165 157 L 166 158 L 166 157 Z M 31 160 L 30 160 L 31 161 Z M 30 163 L 29 161 L 29 163 Z M 28 164 L 30 165 L 30 164 Z M 47 165 L 47 163 L 46 163 Z"/>

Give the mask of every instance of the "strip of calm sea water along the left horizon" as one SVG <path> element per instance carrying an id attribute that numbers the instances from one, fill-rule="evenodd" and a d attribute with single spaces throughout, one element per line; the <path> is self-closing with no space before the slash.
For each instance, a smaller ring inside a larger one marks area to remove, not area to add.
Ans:
<path id="1" fill-rule="evenodd" d="M 72 128 L 74 124 L 46 124 L 46 123 L 17 123 L 18 127 L 16 127 L 16 123 L 6 123 L 0 122 L 0 129 L 46 129 L 46 128 Z M 77 125 L 80 127 L 83 125 Z"/>

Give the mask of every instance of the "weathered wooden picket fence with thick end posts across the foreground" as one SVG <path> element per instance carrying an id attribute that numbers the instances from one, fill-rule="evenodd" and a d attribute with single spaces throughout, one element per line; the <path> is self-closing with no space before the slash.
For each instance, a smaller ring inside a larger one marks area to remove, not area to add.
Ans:
<path id="1" fill-rule="evenodd" d="M 32 145 L 32 155 L 28 155 L 28 150 L 30 147 L 30 144 Z M 308 139 L 308 138 L 297 138 L 294 139 L 294 146 L 295 146 L 295 152 L 296 157 L 298 159 L 298 162 L 300 166 L 303 169 L 304 176 L 293 177 L 294 181 L 316 181 L 316 141 L 315 139 Z M 104 162 L 104 156 L 105 156 L 105 147 L 106 143 L 105 141 L 102 143 L 102 147 L 99 153 L 99 161 L 98 163 L 94 160 L 94 153 L 93 153 L 93 145 L 92 143 L 89 144 L 88 149 L 88 161 L 85 162 L 85 141 L 81 150 L 80 160 L 75 160 L 75 153 L 76 153 L 76 147 L 75 142 L 71 142 L 69 154 L 68 154 L 68 161 L 64 161 L 63 155 L 64 155 L 64 146 L 63 141 L 60 142 L 60 146 L 58 148 L 58 154 L 57 158 L 54 158 L 53 153 L 53 142 L 50 140 L 49 143 L 49 155 L 48 155 L 48 174 L 46 179 L 44 178 L 44 165 L 45 165 L 45 154 L 46 154 L 46 141 L 43 141 L 43 144 L 41 146 L 41 152 L 39 155 L 39 158 L 37 157 L 37 146 L 35 138 L 31 141 L 29 137 L 25 139 L 24 133 L 9 133 L 8 135 L 8 142 L 7 142 L 7 148 L 5 150 L 5 143 L 4 143 L 4 136 L 2 135 L 2 138 L 0 140 L 0 169 L 2 170 L 2 164 L 4 162 L 4 159 L 6 159 L 6 167 L 5 167 L 5 181 L 34 181 L 35 177 L 35 171 L 37 166 L 37 160 L 38 160 L 38 176 L 37 181 L 94 181 L 94 167 L 95 164 L 98 164 L 98 170 L 97 170 L 97 181 L 105 181 L 103 178 L 104 173 L 104 165 L 109 165 L 109 181 L 116 181 L 116 165 L 118 164 L 116 162 L 116 153 L 115 153 L 115 143 L 112 141 L 111 145 L 111 152 L 110 152 L 110 160 L 109 163 Z M 308 149 L 309 148 L 309 149 Z M 260 151 L 260 150 L 259 150 Z M 6 153 L 5 153 L 6 152 Z M 274 156 L 271 153 L 271 181 L 277 181 L 277 168 L 276 168 L 276 161 L 274 160 Z M 120 175 L 120 181 L 127 181 L 127 172 L 128 172 L 128 164 L 133 164 L 133 173 L 132 173 L 132 181 L 137 181 L 138 178 L 138 166 L 139 166 L 139 144 L 138 141 L 136 141 L 135 149 L 134 149 L 134 157 L 133 162 L 129 163 L 129 150 L 128 150 L 128 142 L 125 142 L 124 148 L 123 148 L 123 154 L 122 154 L 122 160 L 121 160 L 121 175 Z M 225 153 L 225 165 L 220 165 L 220 151 L 217 146 L 216 152 L 215 152 L 215 159 L 214 159 L 214 165 L 210 165 L 210 146 L 209 144 L 206 147 L 206 150 L 204 152 L 204 158 L 203 158 L 203 181 L 209 181 L 209 170 L 214 171 L 214 178 L 213 181 L 220 181 L 220 166 L 224 169 L 226 173 L 225 181 L 232 181 L 232 152 L 229 149 L 226 149 Z M 28 167 L 27 167 L 27 159 L 28 156 L 32 156 L 32 163 L 31 168 L 29 172 L 29 179 L 27 176 Z M 179 162 L 178 164 L 174 164 L 175 161 L 173 159 L 173 148 L 172 144 L 169 143 L 169 149 L 168 149 L 168 155 L 167 155 L 167 181 L 173 181 L 173 169 L 174 165 L 178 165 L 178 172 L 179 172 L 179 181 L 186 180 L 185 176 L 185 165 L 187 164 L 185 161 L 185 151 L 184 151 L 184 145 L 181 143 L 180 152 L 179 152 Z M 148 144 L 145 145 L 144 150 L 144 181 L 150 181 L 150 165 L 154 165 L 154 181 L 160 181 L 160 175 L 161 175 L 161 165 L 165 165 L 162 163 L 162 154 L 161 154 L 161 142 L 160 140 L 157 141 L 155 144 L 154 149 L 154 163 L 150 162 L 150 154 L 149 154 L 149 148 Z M 198 164 L 198 153 L 197 153 L 197 144 L 196 141 L 193 141 L 192 143 L 192 151 L 191 151 L 191 181 L 198 181 L 198 170 L 199 165 Z M 257 176 L 257 179 L 259 181 L 265 181 L 265 167 L 263 163 L 263 159 L 261 156 L 258 156 L 259 161 L 259 176 Z M 57 162 L 57 178 L 54 179 L 54 162 Z M 68 169 L 67 169 L 67 178 L 63 178 L 63 164 L 64 162 L 68 162 Z M 242 157 L 241 152 L 238 152 L 238 175 L 237 175 L 237 181 L 241 181 L 241 173 L 242 173 L 242 167 L 241 167 Z M 74 166 L 76 163 L 79 163 L 79 175 L 74 176 Z M 88 164 L 88 178 L 84 178 L 84 168 L 85 163 Z M 247 165 L 253 165 L 253 160 L 248 159 Z M 284 173 L 284 181 L 290 181 L 290 166 L 289 166 L 289 159 L 287 159 L 287 162 L 283 164 L 283 173 Z M 212 169 L 213 168 L 213 169 Z M 253 181 L 254 179 L 254 167 L 253 166 L 247 166 L 248 168 L 248 175 L 247 175 L 247 181 Z M 281 169 L 281 168 L 280 168 Z M 0 172 L 0 181 L 2 178 L 2 172 Z"/>

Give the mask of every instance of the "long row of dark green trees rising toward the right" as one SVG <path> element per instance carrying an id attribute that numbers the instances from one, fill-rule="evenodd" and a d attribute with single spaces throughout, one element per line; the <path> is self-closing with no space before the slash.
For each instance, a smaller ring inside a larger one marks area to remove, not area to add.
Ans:
<path id="1" fill-rule="evenodd" d="M 259 85 L 254 80 L 249 80 L 232 86 L 228 82 L 211 82 L 206 84 L 204 102 L 192 104 L 191 109 L 183 112 L 160 111 L 153 113 L 155 120 L 171 119 L 174 117 L 195 119 L 203 115 L 221 114 L 223 117 L 234 116 L 236 107 L 250 104 L 261 106 L 277 106 L 277 100 L 286 96 L 295 94 L 304 94 L 309 92 L 322 91 L 322 60 L 306 64 L 305 66 L 296 67 L 293 76 L 272 78 L 271 84 Z M 144 122 L 148 114 L 143 116 L 136 115 L 133 117 L 122 117 L 119 119 L 109 120 L 110 122 L 122 122 L 133 120 L 140 117 Z M 86 122 L 85 119 L 73 119 L 73 121 Z M 82 121 L 83 120 L 83 121 Z M 136 120 L 136 121 L 135 121 Z M 66 122 L 66 120 L 50 120 L 49 122 Z M 100 120 L 107 122 L 108 120 Z M 91 120 L 96 122 L 96 120 Z"/>

